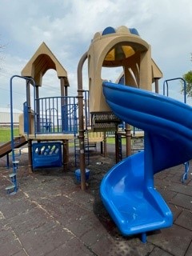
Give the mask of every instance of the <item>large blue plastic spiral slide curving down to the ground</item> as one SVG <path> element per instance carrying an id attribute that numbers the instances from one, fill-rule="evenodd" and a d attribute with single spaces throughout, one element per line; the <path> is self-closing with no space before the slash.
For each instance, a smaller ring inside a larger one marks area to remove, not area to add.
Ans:
<path id="1" fill-rule="evenodd" d="M 145 150 L 115 165 L 102 179 L 106 210 L 123 235 L 172 225 L 173 216 L 154 188 L 154 174 L 192 158 L 192 107 L 165 96 L 103 82 L 103 93 L 118 118 L 145 131 Z"/>

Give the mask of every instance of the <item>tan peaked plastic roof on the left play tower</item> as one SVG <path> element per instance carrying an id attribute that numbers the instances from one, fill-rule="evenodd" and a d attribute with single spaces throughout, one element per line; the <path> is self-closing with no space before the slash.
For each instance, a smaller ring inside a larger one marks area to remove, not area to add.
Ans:
<path id="1" fill-rule="evenodd" d="M 64 78 L 65 86 L 69 86 L 66 70 L 58 62 L 58 59 L 48 46 L 46 46 L 46 43 L 42 42 L 33 57 L 30 58 L 30 61 L 23 68 L 21 74 L 25 77 L 34 78 L 36 85 L 42 86 L 42 77 L 50 69 L 56 70 L 58 78 Z"/>

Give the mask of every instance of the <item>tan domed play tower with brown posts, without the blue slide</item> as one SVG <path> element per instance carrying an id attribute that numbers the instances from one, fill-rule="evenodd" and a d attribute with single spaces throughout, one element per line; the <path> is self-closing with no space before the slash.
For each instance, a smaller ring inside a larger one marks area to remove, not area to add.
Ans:
<path id="1" fill-rule="evenodd" d="M 83 85 L 82 66 L 88 60 L 88 76 L 90 91 L 90 125 L 91 129 L 114 130 L 116 153 L 118 146 L 118 125 L 122 120 L 114 115 L 107 105 L 102 93 L 102 67 L 122 66 L 123 79 L 119 83 L 141 89 L 152 90 L 152 82 L 155 83 L 155 91 L 158 92 L 158 79 L 162 78 L 162 72 L 151 58 L 150 45 L 138 36 L 138 31 L 120 26 L 117 30 L 107 27 L 101 33 L 94 34 L 89 50 L 82 55 L 78 63 L 78 117 L 80 139 L 80 169 L 82 170 L 81 186 L 86 189 L 85 181 L 85 154 L 84 154 L 84 127 L 83 127 Z M 122 78 L 122 77 L 121 77 Z M 122 133 L 121 133 L 122 136 Z M 126 124 L 124 136 L 126 137 L 126 156 L 131 155 L 131 129 Z M 118 153 L 116 154 L 118 160 Z M 119 159 L 120 160 L 120 159 Z M 117 161 L 118 162 L 118 161 Z"/>

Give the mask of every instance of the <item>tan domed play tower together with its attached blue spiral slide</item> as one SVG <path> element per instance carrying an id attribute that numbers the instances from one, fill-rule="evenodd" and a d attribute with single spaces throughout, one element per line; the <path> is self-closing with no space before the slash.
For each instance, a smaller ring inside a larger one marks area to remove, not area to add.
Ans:
<path id="1" fill-rule="evenodd" d="M 191 107 L 158 93 L 162 72 L 151 58 L 150 45 L 138 31 L 121 26 L 96 33 L 89 50 L 78 63 L 79 117 L 82 114 L 82 66 L 88 59 L 90 114 L 93 130 L 117 131 L 119 120 L 126 122 L 127 158 L 103 178 L 102 202 L 123 235 L 141 234 L 169 227 L 172 213 L 154 188 L 154 174 L 185 163 L 192 158 Z M 102 79 L 102 66 L 122 66 L 118 84 Z M 155 82 L 155 93 L 152 83 Z M 123 83 L 124 85 L 121 85 Z M 179 113 L 179 114 L 178 114 Z M 179 117 L 178 117 L 179 115 Z M 187 118 L 188 119 L 188 118 Z M 142 152 L 130 155 L 130 125 L 145 132 Z M 83 146 L 83 121 L 79 119 L 80 146 Z M 178 150 L 179 143 L 179 150 Z M 81 182 L 85 189 L 85 154 L 81 152 Z"/>

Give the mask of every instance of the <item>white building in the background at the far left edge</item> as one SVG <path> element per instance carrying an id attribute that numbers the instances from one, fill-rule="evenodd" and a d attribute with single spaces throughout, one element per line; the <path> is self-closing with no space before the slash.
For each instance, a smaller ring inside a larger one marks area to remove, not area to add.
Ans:
<path id="1" fill-rule="evenodd" d="M 21 110 L 13 109 L 14 125 L 18 125 L 20 114 L 22 114 Z M 0 107 L 0 126 L 9 126 L 9 125 L 10 125 L 10 108 Z"/>

